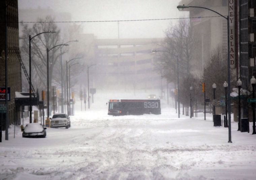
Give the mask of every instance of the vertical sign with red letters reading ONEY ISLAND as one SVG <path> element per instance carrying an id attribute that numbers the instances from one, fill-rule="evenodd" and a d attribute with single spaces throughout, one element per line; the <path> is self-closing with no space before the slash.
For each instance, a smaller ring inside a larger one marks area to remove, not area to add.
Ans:
<path id="1" fill-rule="evenodd" d="M 229 62 L 230 69 L 235 69 L 235 30 L 234 30 L 234 0 L 228 0 L 228 15 L 229 15 Z"/>

